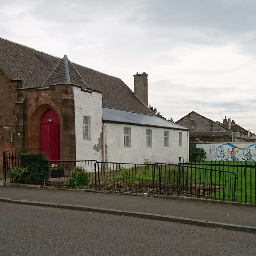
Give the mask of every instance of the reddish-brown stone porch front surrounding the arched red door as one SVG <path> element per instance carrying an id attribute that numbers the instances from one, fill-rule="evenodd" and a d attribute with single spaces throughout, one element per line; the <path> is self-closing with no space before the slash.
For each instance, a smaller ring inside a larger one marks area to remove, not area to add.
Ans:
<path id="1" fill-rule="evenodd" d="M 75 160 L 75 116 L 72 86 L 57 85 L 50 89 L 20 89 L 19 98 L 26 99 L 17 108 L 23 116 L 23 150 L 22 152 L 40 151 L 40 119 L 46 110 L 53 110 L 60 120 L 60 159 Z"/>

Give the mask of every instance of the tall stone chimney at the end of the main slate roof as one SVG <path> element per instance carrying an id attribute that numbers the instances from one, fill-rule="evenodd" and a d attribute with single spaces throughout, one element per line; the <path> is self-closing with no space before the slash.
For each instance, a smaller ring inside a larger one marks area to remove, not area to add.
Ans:
<path id="1" fill-rule="evenodd" d="M 148 74 L 138 72 L 134 76 L 134 94 L 148 107 Z"/>

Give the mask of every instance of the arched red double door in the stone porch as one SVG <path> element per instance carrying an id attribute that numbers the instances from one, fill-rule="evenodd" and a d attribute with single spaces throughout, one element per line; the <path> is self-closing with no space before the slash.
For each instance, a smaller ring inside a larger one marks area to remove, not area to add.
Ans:
<path id="1" fill-rule="evenodd" d="M 49 160 L 60 160 L 60 121 L 53 110 L 47 110 L 40 121 L 41 152 Z"/>

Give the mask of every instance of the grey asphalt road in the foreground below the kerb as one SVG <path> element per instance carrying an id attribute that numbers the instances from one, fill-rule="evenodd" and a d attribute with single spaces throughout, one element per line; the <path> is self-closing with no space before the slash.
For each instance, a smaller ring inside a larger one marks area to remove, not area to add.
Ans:
<path id="1" fill-rule="evenodd" d="M 0 202 L 0 255 L 256 255 L 256 235 Z"/>

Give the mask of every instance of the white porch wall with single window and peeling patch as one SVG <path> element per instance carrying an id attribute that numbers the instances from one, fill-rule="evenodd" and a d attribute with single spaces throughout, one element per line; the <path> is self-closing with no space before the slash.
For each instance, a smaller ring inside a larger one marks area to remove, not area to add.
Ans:
<path id="1" fill-rule="evenodd" d="M 102 94 L 73 87 L 75 101 L 76 160 L 102 161 Z M 90 116 L 91 139 L 83 140 L 83 116 Z M 96 148 L 96 149 L 94 149 Z"/>

